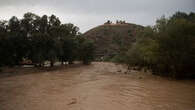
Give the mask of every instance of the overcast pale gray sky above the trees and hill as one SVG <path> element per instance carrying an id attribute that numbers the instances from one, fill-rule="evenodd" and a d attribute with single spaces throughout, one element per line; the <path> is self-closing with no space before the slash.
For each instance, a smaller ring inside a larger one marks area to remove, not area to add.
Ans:
<path id="1" fill-rule="evenodd" d="M 22 18 L 26 12 L 54 14 L 81 32 L 108 19 L 153 25 L 157 18 L 176 11 L 195 12 L 195 0 L 0 0 L 0 19 Z"/>

